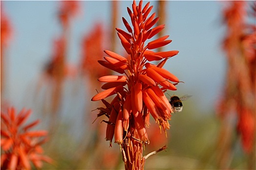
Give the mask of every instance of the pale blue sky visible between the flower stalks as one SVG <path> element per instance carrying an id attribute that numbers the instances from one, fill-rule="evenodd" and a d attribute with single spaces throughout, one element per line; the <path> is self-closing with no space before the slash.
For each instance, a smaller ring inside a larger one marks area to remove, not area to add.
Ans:
<path id="1" fill-rule="evenodd" d="M 81 35 L 88 33 L 96 22 L 103 22 L 105 28 L 110 24 L 110 1 L 80 3 L 82 12 L 72 22 L 68 51 L 68 60 L 74 64 L 80 58 Z M 128 19 L 126 8 L 131 3 L 120 1 L 120 28 L 124 28 L 122 17 Z M 150 3 L 155 6 L 156 1 Z M 43 64 L 50 57 L 52 41 L 60 34 L 56 17 L 59 1 L 1 1 L 1 5 L 14 30 L 6 52 L 7 98 L 23 107 L 23 97 L 36 84 Z M 185 82 L 173 93 L 192 95 L 195 107 L 202 109 L 213 109 L 224 84 L 225 55 L 221 41 L 225 29 L 221 25 L 221 10 L 221 1 L 168 1 L 167 4 L 165 33 L 172 42 L 164 50 L 180 52 L 168 60 L 165 68 Z"/>

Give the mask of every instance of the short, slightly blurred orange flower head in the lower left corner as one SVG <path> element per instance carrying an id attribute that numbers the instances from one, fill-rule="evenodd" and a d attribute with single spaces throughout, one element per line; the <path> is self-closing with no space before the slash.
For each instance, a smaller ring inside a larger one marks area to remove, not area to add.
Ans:
<path id="1" fill-rule="evenodd" d="M 15 112 L 14 108 L 7 114 L 1 112 L 1 169 L 30 170 L 30 162 L 36 168 L 43 167 L 42 161 L 52 163 L 40 146 L 46 141 L 47 131 L 29 131 L 40 121 L 23 125 L 31 110 L 23 109 L 18 115 Z"/>

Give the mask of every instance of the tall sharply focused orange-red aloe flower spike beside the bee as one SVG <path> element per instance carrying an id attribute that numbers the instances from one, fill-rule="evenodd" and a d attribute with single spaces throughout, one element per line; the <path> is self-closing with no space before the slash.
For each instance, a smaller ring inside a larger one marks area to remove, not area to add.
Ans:
<path id="1" fill-rule="evenodd" d="M 99 116 L 106 115 L 106 139 L 115 137 L 115 143 L 120 144 L 126 169 L 143 169 L 143 145 L 149 144 L 145 126 L 149 126 L 149 114 L 155 119 L 159 127 L 170 129 L 168 120 L 171 119 L 172 108 L 164 95 L 167 89 L 176 90 L 175 85 L 179 79 L 168 70 L 163 69 L 166 60 L 176 55 L 179 51 L 154 52 L 153 49 L 163 47 L 171 40 L 169 35 L 146 42 L 149 38 L 164 29 L 164 25 L 152 28 L 159 20 L 153 13 L 149 13 L 153 6 L 149 2 L 143 7 L 132 3 L 132 11 L 128 9 L 131 24 L 123 17 L 124 25 L 128 32 L 117 28 L 118 37 L 128 53 L 125 58 L 112 51 L 104 51 L 108 56 L 99 63 L 125 75 L 108 75 L 100 77 L 100 82 L 105 91 L 96 94 L 91 100 L 102 100 L 106 109 L 100 109 Z M 159 65 L 150 64 L 150 61 L 160 61 Z M 174 83 L 171 83 L 171 82 Z M 104 99 L 116 95 L 111 103 Z"/>

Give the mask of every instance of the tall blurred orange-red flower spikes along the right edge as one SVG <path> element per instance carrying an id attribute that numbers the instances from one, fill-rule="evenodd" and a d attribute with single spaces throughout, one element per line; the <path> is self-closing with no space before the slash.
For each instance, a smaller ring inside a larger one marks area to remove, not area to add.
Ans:
<path id="1" fill-rule="evenodd" d="M 243 151 L 249 155 L 248 169 L 255 167 L 256 24 L 246 20 L 250 18 L 250 6 L 255 9 L 255 4 L 246 1 L 224 3 L 223 22 L 227 31 L 223 49 L 228 65 L 226 84 L 217 107 L 222 123 L 220 131 L 223 132 L 219 136 L 219 147 L 222 148 L 218 153 L 220 169 L 230 167 L 233 146 L 238 143 L 238 138 L 241 138 Z M 234 135 L 234 131 L 238 136 Z M 226 142 L 222 142 L 224 138 Z"/>

